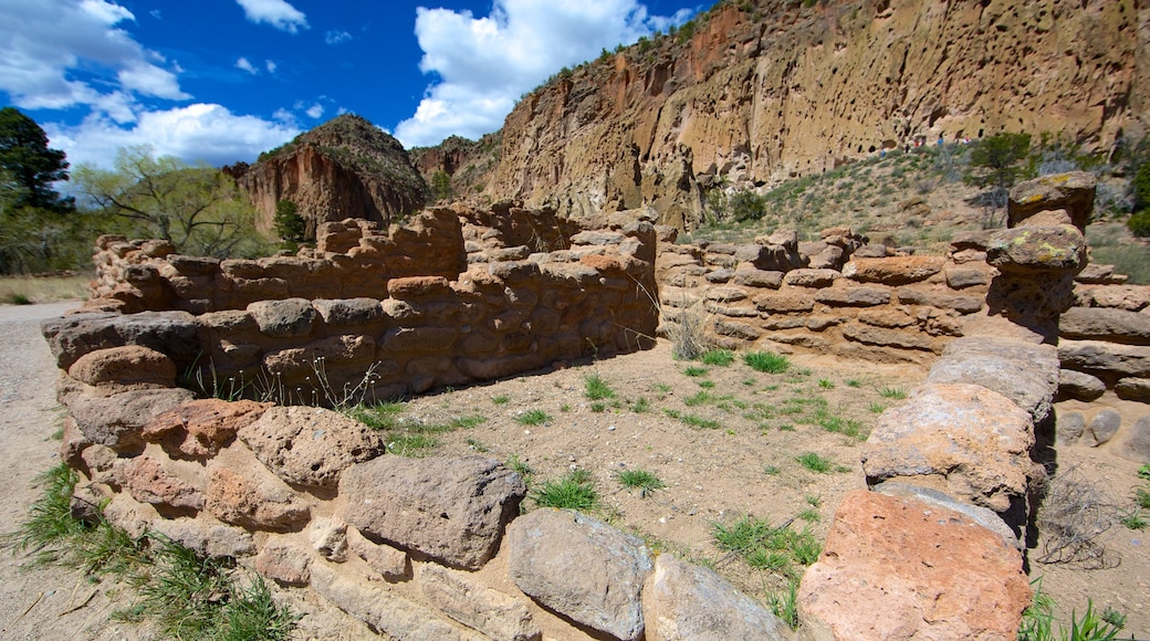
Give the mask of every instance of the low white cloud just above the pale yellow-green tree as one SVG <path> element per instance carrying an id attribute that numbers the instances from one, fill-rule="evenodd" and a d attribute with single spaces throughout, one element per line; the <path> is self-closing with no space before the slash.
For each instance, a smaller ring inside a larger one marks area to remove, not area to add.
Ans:
<path id="1" fill-rule="evenodd" d="M 294 118 L 273 122 L 205 103 L 138 113 L 130 128 L 93 114 L 76 126 L 46 123 L 44 130 L 51 145 L 63 149 L 72 165 L 91 163 L 103 168 L 112 167 L 121 147 L 143 144 L 152 145 L 156 155 L 172 155 L 186 162 L 207 161 L 213 165 L 251 162 L 260 152 L 299 134 Z"/>

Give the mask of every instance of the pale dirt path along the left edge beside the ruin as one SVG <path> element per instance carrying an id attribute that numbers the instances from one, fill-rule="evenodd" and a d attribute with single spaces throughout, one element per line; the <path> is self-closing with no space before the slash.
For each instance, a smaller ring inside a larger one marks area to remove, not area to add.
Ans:
<path id="1" fill-rule="evenodd" d="M 40 322 L 77 306 L 55 302 L 0 306 L 0 531 L 23 519 L 39 491 L 36 476 L 59 462 L 53 434 L 63 414 L 56 403 L 56 368 L 40 335 Z M 132 626 L 109 623 L 122 588 L 91 584 L 60 567 L 33 572 L 25 557 L 0 551 L 0 638 L 151 639 Z"/>

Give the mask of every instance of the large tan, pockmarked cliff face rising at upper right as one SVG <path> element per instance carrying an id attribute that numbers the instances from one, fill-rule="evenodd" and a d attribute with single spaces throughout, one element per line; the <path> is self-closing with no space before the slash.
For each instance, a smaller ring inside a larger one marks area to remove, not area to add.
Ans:
<path id="1" fill-rule="evenodd" d="M 1105 150 L 1150 121 L 1135 0 L 737 5 L 527 95 L 485 194 L 570 216 L 653 206 L 690 229 L 699 185 L 720 179 L 769 185 L 1003 131 Z"/>

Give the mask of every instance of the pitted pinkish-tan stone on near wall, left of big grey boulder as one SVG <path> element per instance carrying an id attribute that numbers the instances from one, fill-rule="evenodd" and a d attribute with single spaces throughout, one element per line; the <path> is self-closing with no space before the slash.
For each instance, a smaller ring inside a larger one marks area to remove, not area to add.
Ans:
<path id="1" fill-rule="evenodd" d="M 279 478 L 315 487 L 336 487 L 345 469 L 384 450 L 367 425 L 313 407 L 274 407 L 238 435 Z"/>

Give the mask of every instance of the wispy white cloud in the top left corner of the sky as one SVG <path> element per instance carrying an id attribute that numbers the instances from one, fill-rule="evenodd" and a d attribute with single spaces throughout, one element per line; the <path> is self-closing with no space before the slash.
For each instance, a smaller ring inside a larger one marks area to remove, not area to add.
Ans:
<path id="1" fill-rule="evenodd" d="M 123 122 L 132 95 L 191 98 L 178 65 L 164 69 L 163 56 L 116 28 L 136 16 L 115 2 L 0 0 L 0 91 L 17 107 L 87 105 Z"/>

